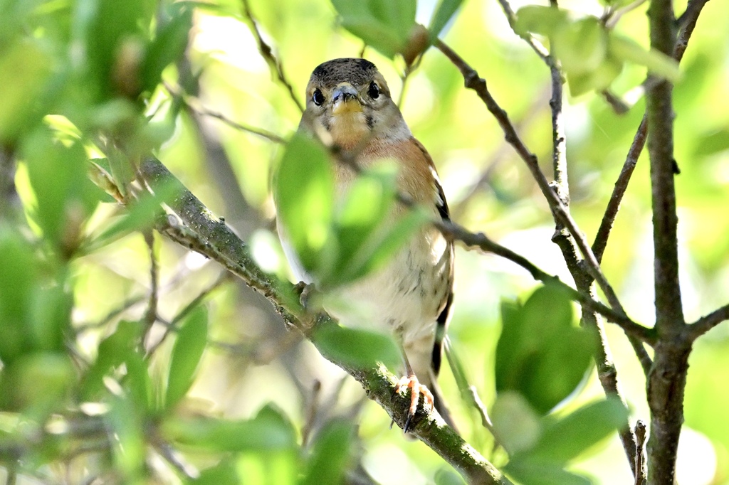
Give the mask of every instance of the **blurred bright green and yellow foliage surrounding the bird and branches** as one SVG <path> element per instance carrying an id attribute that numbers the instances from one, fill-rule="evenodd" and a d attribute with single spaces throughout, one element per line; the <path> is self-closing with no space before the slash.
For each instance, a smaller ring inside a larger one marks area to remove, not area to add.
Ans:
<path id="1" fill-rule="evenodd" d="M 456 68 L 428 50 L 403 89 L 405 64 L 387 57 L 407 42 L 397 19 L 415 15 L 435 31 L 445 25 L 441 38 L 486 77 L 550 173 L 549 72 L 499 4 L 466 1 L 448 21 L 453 2 L 445 9 L 402 2 L 412 8 L 384 14 L 357 3 L 0 0 L 0 476 L 59 484 L 212 484 L 243 476 L 252 484 L 323 484 L 367 475 L 383 484 L 459 483 L 423 443 L 390 430 L 356 382 L 286 331 L 268 301 L 153 233 L 164 194 L 141 197 L 129 210 L 109 196 L 139 192 L 129 161 L 154 151 L 250 242 L 261 267 L 285 277 L 270 173 L 284 153 L 281 138 L 296 130 L 311 70 L 359 55 L 354 32 L 382 39 L 365 56 L 402 98 L 405 119 L 436 161 L 453 219 L 571 281 L 550 242 L 554 226 L 539 189 Z M 564 117 L 572 214 L 591 237 L 644 112 L 637 89 L 644 65 L 675 73 L 595 33 L 587 16 L 602 15 L 603 5 L 560 6 L 583 20 L 542 19 L 535 27 L 526 10 L 521 28 L 561 33 L 571 90 Z M 624 15 L 611 36 L 645 47 L 644 12 Z M 728 15 L 726 4 L 709 2 L 674 91 L 687 320 L 729 294 Z M 390 36 L 372 35 L 380 32 Z M 276 58 L 262 57 L 260 42 Z M 585 59 L 592 64 L 585 67 Z M 596 94 L 608 84 L 630 106 L 625 114 Z M 643 158 L 604 272 L 628 315 L 650 323 Z M 497 466 L 506 465 L 508 452 L 506 470 L 523 483 L 539 483 L 530 468 L 539 460 L 556 483 L 585 483 L 561 472 L 564 466 L 595 483 L 630 481 L 611 433 L 623 410 L 604 401 L 585 352 L 590 337 L 575 325 L 572 304 L 552 288 L 535 291 L 526 272 L 488 254 L 459 249 L 456 279 L 451 340 L 493 411 L 501 446 L 446 368 L 441 385 L 461 434 Z M 623 332 L 607 331 L 631 422 L 647 419 L 639 363 Z M 695 344 L 681 483 L 729 483 L 726 355 L 725 326 Z M 546 476 L 542 470 L 538 478 Z"/>

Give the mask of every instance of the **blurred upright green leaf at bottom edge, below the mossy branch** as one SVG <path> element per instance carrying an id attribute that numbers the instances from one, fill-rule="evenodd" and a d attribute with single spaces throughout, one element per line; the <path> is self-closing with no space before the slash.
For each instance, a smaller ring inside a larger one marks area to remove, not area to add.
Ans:
<path id="1" fill-rule="evenodd" d="M 343 483 L 344 473 L 351 462 L 354 422 L 328 422 L 316 436 L 309 457 L 303 485 L 337 485 Z"/>

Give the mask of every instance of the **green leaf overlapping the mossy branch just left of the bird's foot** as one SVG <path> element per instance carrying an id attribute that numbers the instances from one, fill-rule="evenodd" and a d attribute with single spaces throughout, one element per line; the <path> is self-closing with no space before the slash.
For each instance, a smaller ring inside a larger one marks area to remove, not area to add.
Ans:
<path id="1" fill-rule="evenodd" d="M 401 359 L 391 336 L 373 331 L 331 325 L 319 328 L 313 339 L 322 355 L 347 367 L 374 367 L 381 362 L 391 368 Z"/>

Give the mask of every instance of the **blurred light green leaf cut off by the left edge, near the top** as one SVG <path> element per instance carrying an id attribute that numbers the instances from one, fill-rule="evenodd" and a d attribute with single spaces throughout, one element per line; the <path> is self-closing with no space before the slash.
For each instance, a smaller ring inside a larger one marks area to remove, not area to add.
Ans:
<path id="1" fill-rule="evenodd" d="M 45 100 L 42 91 L 50 81 L 53 61 L 36 40 L 0 43 L 1 143 L 15 141 L 41 120 L 42 106 L 38 105 Z"/>

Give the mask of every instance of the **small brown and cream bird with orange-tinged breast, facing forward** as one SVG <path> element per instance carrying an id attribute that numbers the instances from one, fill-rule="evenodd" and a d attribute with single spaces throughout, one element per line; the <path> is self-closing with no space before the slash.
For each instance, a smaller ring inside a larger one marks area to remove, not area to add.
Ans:
<path id="1" fill-rule="evenodd" d="M 335 59 L 314 69 L 306 87 L 300 130 L 350 153 L 360 169 L 383 158 L 394 159 L 399 192 L 428 208 L 434 217 L 448 220 L 448 204 L 433 161 L 413 138 L 385 79 L 369 60 Z M 346 192 L 356 168 L 335 162 L 332 170 L 338 192 Z M 387 217 L 394 221 L 405 210 L 409 209 L 396 204 Z M 279 236 L 289 264 L 298 273 L 295 276 L 316 283 L 301 270 L 281 224 Z M 402 349 L 407 376 L 397 390 L 412 390 L 405 432 L 420 395 L 426 408 L 435 405 L 447 416 L 442 401 L 429 388 L 437 390 L 435 378 L 453 302 L 453 242 L 435 227 L 424 226 L 386 267 L 347 285 L 340 294 L 351 303 L 351 310 L 327 308 L 333 317 L 345 326 L 391 331 Z"/>

